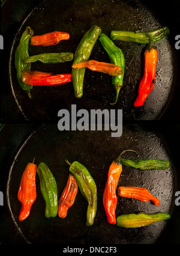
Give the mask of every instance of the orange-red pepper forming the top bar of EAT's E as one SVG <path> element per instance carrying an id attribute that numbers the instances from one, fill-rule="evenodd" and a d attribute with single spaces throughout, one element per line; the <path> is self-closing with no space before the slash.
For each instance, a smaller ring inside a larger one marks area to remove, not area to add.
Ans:
<path id="1" fill-rule="evenodd" d="M 31 45 L 33 46 L 50 46 L 58 44 L 61 40 L 68 40 L 70 34 L 67 32 L 54 31 L 43 35 L 34 35 L 31 37 Z"/>

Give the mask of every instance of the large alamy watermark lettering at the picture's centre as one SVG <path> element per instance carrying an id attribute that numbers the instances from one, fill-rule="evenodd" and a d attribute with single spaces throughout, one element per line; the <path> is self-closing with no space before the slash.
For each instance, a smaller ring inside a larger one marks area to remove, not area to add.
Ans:
<path id="1" fill-rule="evenodd" d="M 122 109 L 86 109 L 77 111 L 76 105 L 71 105 L 71 114 L 67 109 L 58 111 L 59 130 L 111 130 L 112 137 L 122 135 Z"/>

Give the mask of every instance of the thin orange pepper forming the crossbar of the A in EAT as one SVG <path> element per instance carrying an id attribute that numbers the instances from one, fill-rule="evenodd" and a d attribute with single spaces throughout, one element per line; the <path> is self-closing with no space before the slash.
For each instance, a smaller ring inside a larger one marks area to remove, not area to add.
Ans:
<path id="1" fill-rule="evenodd" d="M 122 74 L 121 67 L 118 67 L 115 64 L 94 60 L 79 62 L 72 66 L 73 69 L 82 69 L 84 67 L 87 67 L 92 71 L 108 74 L 110 76 L 119 76 Z"/>

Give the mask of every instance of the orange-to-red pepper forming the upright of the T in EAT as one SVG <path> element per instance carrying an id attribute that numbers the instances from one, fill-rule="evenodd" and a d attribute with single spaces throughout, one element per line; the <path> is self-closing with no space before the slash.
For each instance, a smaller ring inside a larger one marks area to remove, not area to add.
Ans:
<path id="1" fill-rule="evenodd" d="M 145 70 L 143 78 L 139 84 L 139 91 L 134 106 L 142 106 L 145 99 L 151 93 L 154 87 L 155 71 L 157 66 L 157 50 L 150 46 L 145 50 Z"/>

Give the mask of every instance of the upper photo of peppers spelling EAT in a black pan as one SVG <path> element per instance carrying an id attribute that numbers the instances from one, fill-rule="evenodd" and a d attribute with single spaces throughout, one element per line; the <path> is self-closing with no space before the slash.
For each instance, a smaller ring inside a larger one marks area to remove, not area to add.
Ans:
<path id="1" fill-rule="evenodd" d="M 180 120 L 179 3 L 1 0 L 1 122 L 122 109 Z"/>

